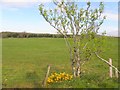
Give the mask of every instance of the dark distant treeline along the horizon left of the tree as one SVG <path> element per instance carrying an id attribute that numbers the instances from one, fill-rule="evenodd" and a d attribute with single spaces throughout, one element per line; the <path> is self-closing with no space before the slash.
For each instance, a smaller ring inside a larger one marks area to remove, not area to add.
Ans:
<path id="1" fill-rule="evenodd" d="M 26 32 L 1 32 L 0 37 L 2 38 L 34 38 L 34 37 L 64 38 L 64 36 L 60 34 L 36 34 L 36 33 L 26 33 Z"/>

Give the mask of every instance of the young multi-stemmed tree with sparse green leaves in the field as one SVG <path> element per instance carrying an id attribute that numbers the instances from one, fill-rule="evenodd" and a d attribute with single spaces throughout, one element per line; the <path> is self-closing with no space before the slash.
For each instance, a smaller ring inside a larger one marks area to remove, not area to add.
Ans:
<path id="1" fill-rule="evenodd" d="M 79 8 L 76 2 L 54 0 L 54 9 L 45 9 L 39 5 L 40 14 L 65 38 L 70 52 L 74 77 L 81 74 L 82 65 L 90 59 L 94 52 L 101 51 L 103 37 L 98 35 L 105 16 L 102 16 L 104 4 L 92 9 L 87 2 L 86 8 Z M 68 37 L 68 34 L 71 35 Z M 105 33 L 103 33 L 105 34 Z"/>

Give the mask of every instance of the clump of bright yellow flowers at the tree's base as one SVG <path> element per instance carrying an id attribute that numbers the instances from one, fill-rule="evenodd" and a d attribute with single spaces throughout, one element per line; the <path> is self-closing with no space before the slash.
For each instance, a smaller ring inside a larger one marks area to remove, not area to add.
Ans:
<path id="1" fill-rule="evenodd" d="M 71 80 L 73 78 L 73 75 L 66 74 L 65 72 L 63 73 L 52 73 L 48 79 L 47 83 L 53 83 L 53 82 L 61 82 L 64 80 Z"/>

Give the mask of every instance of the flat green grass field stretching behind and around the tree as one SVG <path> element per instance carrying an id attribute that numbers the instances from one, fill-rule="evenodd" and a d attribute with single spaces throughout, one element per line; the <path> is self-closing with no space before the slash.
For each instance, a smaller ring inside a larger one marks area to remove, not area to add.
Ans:
<path id="1" fill-rule="evenodd" d="M 107 38 L 105 59 L 118 66 L 118 38 Z M 4 88 L 40 88 L 47 65 L 50 72 L 71 74 L 68 49 L 62 38 L 11 38 L 2 40 L 2 83 Z M 48 85 L 48 88 L 117 88 L 109 78 L 109 67 L 95 56 L 83 66 L 81 78 Z"/>

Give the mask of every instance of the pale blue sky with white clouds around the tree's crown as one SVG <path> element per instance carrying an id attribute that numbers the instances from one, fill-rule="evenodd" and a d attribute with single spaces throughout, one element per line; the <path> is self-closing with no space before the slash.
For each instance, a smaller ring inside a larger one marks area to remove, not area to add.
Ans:
<path id="1" fill-rule="evenodd" d="M 88 0 L 78 0 L 82 7 Z M 98 7 L 101 0 L 89 0 Z M 97 1 L 97 2 L 96 2 Z M 118 36 L 118 0 L 103 0 L 107 19 L 100 28 L 109 36 Z M 39 13 L 39 4 L 52 8 L 51 0 L 0 0 L 0 32 L 57 33 Z"/>

